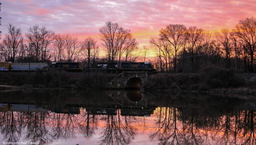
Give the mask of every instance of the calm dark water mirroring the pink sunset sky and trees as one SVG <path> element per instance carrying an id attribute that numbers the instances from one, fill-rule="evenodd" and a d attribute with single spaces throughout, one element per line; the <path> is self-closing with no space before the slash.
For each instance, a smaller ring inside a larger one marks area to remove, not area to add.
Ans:
<path id="1" fill-rule="evenodd" d="M 0 144 L 255 144 L 252 96 L 0 91 Z"/>

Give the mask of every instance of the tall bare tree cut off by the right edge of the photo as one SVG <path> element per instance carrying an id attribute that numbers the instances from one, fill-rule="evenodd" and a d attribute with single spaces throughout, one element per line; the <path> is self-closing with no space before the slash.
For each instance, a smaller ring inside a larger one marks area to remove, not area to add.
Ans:
<path id="1" fill-rule="evenodd" d="M 246 48 L 246 53 L 248 53 L 250 57 L 249 65 L 250 65 L 250 72 L 253 72 L 253 65 L 254 65 L 254 54 L 256 49 L 256 18 L 250 17 L 241 19 L 236 26 L 234 32 L 236 35 L 244 41 Z"/>

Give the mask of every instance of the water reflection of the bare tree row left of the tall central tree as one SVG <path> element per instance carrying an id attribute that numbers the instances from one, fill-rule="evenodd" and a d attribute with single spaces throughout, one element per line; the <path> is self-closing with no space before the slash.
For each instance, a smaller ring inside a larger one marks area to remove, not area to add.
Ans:
<path id="1" fill-rule="evenodd" d="M 26 140 L 48 144 L 53 139 L 75 138 L 78 132 L 89 138 L 95 129 L 97 116 L 89 116 L 85 109 L 81 114 L 0 112 L 0 130 L 7 141 L 18 141 L 23 130 Z"/>

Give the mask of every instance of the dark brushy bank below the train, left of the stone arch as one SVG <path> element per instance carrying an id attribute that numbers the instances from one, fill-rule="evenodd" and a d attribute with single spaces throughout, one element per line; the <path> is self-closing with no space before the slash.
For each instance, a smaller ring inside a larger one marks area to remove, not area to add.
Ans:
<path id="1" fill-rule="evenodd" d="M 102 88 L 115 74 L 103 72 L 77 73 L 66 71 L 2 72 L 0 85 L 22 86 L 25 88 Z"/>

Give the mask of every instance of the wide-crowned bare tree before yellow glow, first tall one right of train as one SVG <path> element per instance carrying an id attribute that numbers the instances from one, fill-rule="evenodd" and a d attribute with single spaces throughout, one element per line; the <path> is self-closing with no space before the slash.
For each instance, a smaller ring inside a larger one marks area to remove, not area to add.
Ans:
<path id="1" fill-rule="evenodd" d="M 167 41 L 174 50 L 174 71 L 177 69 L 177 53 L 186 42 L 186 27 L 184 25 L 168 25 L 165 29 L 160 30 L 160 37 Z"/>

